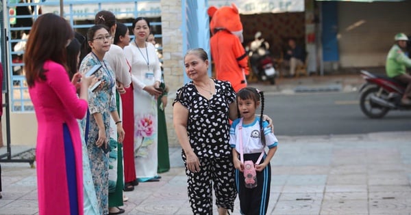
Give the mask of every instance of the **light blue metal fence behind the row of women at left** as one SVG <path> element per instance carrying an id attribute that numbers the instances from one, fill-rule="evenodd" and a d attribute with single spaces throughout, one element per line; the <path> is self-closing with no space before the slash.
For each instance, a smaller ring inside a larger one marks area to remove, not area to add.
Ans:
<path id="1" fill-rule="evenodd" d="M 34 111 L 23 72 L 24 46 L 34 20 L 40 14 L 48 12 L 60 14 L 60 7 L 64 8 L 64 18 L 79 32 L 86 32 L 86 29 L 94 25 L 97 12 L 109 10 L 118 20 L 124 20 L 122 22 L 127 26 L 131 26 L 133 18 L 148 17 L 151 28 L 155 31 L 155 40 L 159 42 L 162 38 L 160 0 L 71 0 L 64 1 L 64 5 L 60 5 L 60 0 L 8 0 L 3 5 L 3 10 L 8 12 L 5 13 L 8 41 L 3 53 L 8 55 L 6 71 L 10 74 L 10 110 L 13 112 Z M 159 49 L 162 49 L 161 46 Z"/>

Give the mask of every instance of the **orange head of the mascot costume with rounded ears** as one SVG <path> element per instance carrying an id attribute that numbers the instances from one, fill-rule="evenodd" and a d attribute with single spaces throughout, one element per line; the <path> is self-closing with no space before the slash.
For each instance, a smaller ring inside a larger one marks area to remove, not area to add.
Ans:
<path id="1" fill-rule="evenodd" d="M 231 7 L 223 6 L 220 9 L 211 6 L 208 8 L 208 16 L 211 17 L 210 30 L 214 34 L 216 31 L 225 29 L 243 41 L 242 38 L 242 23 L 240 20 L 240 13 L 234 3 Z"/>

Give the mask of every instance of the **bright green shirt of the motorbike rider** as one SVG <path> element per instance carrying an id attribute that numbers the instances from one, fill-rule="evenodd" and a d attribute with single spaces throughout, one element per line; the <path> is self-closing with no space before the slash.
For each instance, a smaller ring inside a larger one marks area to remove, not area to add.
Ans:
<path id="1" fill-rule="evenodd" d="M 411 59 L 399 48 L 397 44 L 391 47 L 387 55 L 387 76 L 393 78 L 400 74 L 406 74 L 406 68 L 411 67 Z"/>

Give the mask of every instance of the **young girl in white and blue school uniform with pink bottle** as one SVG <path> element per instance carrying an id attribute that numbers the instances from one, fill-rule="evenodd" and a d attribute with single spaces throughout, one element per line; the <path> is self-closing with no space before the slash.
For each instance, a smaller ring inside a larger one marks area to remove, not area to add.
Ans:
<path id="1" fill-rule="evenodd" d="M 256 116 L 260 106 L 261 115 Z M 264 94 L 253 87 L 237 93 L 240 118 L 233 121 L 229 144 L 233 150 L 236 168 L 236 188 L 241 214 L 266 214 L 269 205 L 271 167 L 270 160 L 277 151 L 277 138 L 262 120 Z M 269 148 L 266 154 L 264 149 Z"/>

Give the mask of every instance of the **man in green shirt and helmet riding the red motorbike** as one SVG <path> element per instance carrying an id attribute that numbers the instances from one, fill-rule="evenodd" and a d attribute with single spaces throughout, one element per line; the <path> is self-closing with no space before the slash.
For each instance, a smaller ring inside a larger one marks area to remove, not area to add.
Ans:
<path id="1" fill-rule="evenodd" d="M 404 53 L 407 47 L 408 37 L 404 33 L 397 33 L 394 37 L 395 44 L 388 52 L 386 59 L 386 73 L 390 78 L 397 79 L 407 84 L 401 103 L 411 105 L 411 75 L 406 68 L 411 68 L 411 59 Z"/>

